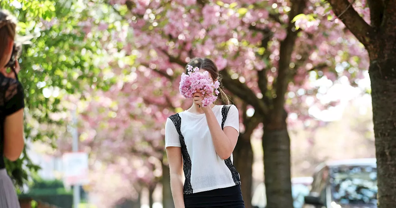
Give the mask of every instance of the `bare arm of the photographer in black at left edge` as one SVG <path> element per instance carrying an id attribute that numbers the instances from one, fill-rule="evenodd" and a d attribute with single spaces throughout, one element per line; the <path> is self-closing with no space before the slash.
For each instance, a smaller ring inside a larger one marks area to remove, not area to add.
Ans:
<path id="1" fill-rule="evenodd" d="M 15 161 L 21 156 L 24 146 L 23 109 L 19 109 L 4 121 L 4 156 Z"/>

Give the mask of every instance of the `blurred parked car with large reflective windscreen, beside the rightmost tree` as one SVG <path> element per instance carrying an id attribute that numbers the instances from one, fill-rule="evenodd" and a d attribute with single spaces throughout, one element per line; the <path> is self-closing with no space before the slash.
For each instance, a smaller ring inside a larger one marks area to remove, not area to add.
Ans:
<path id="1" fill-rule="evenodd" d="M 375 158 L 320 164 L 303 208 L 377 208 Z"/>

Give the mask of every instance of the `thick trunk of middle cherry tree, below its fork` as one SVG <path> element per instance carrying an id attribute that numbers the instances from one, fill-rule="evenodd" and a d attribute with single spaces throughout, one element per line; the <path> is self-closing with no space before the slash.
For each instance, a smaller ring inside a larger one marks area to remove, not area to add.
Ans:
<path id="1" fill-rule="evenodd" d="M 264 181 L 267 208 L 293 208 L 290 180 L 290 138 L 282 128 L 267 126 L 263 134 Z"/>

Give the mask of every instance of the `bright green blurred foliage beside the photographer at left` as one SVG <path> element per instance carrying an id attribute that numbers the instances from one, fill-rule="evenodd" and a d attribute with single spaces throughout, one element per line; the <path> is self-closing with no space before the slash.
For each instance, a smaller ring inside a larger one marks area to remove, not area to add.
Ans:
<path id="1" fill-rule="evenodd" d="M 86 86 L 107 90 L 115 82 L 114 78 L 103 77 L 103 71 L 109 71 L 110 67 L 103 59 L 101 38 L 109 31 L 92 31 L 91 27 L 95 28 L 98 22 L 91 23 L 90 19 L 98 14 L 92 13 L 87 2 L 0 1 L 0 8 L 11 11 L 20 21 L 19 35 L 32 37 L 32 44 L 24 46 L 19 59 L 19 80 L 25 89 L 25 115 L 38 122 L 39 126 L 64 125 L 63 120 L 53 120 L 50 114 L 65 111 L 60 105 L 65 95 L 80 95 Z M 104 21 L 109 20 L 105 13 L 102 15 Z M 84 22 L 90 27 L 85 27 Z M 90 33 L 89 38 L 86 38 L 87 33 Z M 40 130 L 37 126 L 25 122 L 27 139 L 51 143 L 57 137 L 57 132 Z M 16 162 L 6 161 L 6 166 L 16 185 L 25 183 L 29 172 L 38 170 L 26 151 Z"/>

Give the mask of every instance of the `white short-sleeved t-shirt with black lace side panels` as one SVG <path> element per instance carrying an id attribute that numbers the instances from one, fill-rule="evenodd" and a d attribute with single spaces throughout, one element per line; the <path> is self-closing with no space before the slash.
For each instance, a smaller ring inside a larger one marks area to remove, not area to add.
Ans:
<path id="1" fill-rule="evenodd" d="M 239 113 L 235 105 L 213 107 L 219 125 L 239 133 Z M 225 119 L 224 119 L 225 118 Z M 222 160 L 215 151 L 205 114 L 183 111 L 169 116 L 165 126 L 165 147 L 181 147 L 184 194 L 198 193 L 239 185 L 239 173 L 232 155 Z"/>

